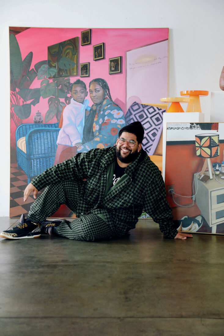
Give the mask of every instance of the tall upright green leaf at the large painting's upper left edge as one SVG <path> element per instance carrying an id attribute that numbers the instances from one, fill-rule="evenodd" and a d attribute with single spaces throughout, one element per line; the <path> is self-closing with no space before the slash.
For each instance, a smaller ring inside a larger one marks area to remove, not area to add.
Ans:
<path id="1" fill-rule="evenodd" d="M 20 47 L 15 38 L 15 35 L 9 35 L 9 52 L 10 52 L 10 71 L 11 80 L 17 80 L 22 75 L 23 62 L 20 52 Z"/>

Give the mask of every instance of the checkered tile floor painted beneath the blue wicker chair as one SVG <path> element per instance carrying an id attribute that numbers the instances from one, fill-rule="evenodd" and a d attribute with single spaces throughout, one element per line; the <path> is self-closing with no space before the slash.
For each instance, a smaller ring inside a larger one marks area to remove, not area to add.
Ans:
<path id="1" fill-rule="evenodd" d="M 10 167 L 10 218 L 20 218 L 30 210 L 34 202 L 32 197 L 28 197 L 26 203 L 23 201 L 23 193 L 27 186 L 27 175 L 21 168 L 17 168 L 16 163 L 11 163 Z"/>

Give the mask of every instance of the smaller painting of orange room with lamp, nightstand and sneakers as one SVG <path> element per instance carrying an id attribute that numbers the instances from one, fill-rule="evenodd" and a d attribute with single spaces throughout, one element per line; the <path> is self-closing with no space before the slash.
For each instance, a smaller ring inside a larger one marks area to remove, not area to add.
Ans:
<path id="1" fill-rule="evenodd" d="M 224 234 L 224 123 L 166 127 L 166 199 L 176 228 Z"/>

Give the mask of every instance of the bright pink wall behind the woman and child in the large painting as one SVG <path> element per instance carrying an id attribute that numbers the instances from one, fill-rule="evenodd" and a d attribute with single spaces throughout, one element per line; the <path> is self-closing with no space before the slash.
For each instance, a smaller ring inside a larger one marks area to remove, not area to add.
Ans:
<path id="1" fill-rule="evenodd" d="M 61 41 L 79 37 L 79 63 L 90 62 L 90 77 L 82 77 L 81 79 L 88 84 L 90 80 L 101 77 L 104 78 L 109 85 L 112 99 L 115 100 L 120 107 L 125 109 L 125 51 L 148 45 L 157 41 L 167 39 L 168 28 L 155 29 L 92 29 L 91 44 L 81 46 L 81 31 L 88 28 L 30 28 L 16 35 L 16 39 L 21 49 L 22 59 L 32 51 L 33 60 L 31 69 L 34 65 L 47 59 L 47 47 L 49 45 L 59 43 Z M 93 60 L 93 45 L 105 43 L 105 59 Z M 119 74 L 109 75 L 109 58 L 122 56 L 122 72 Z M 78 66 L 79 68 L 79 66 Z M 78 69 L 79 71 L 79 69 Z M 70 77 L 70 81 L 75 81 L 79 76 Z M 39 88 L 41 80 L 35 79 L 30 88 Z M 137 83 L 133 83 L 137 85 Z M 89 105 L 92 102 L 89 99 Z M 64 101 L 64 99 L 61 99 Z M 23 120 L 23 123 L 33 122 L 35 112 L 39 110 L 44 116 L 48 110 L 48 98 L 40 98 L 40 102 L 32 106 L 31 115 Z M 126 111 L 124 111 L 125 113 Z M 49 123 L 57 122 L 54 117 Z M 14 147 L 15 126 L 11 123 L 11 146 Z"/>

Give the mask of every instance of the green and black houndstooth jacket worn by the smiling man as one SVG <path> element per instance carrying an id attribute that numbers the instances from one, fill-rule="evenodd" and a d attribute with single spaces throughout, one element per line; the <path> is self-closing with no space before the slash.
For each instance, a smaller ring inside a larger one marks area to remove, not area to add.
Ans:
<path id="1" fill-rule="evenodd" d="M 127 178 L 106 194 L 108 166 L 115 158 L 115 146 L 78 153 L 48 168 L 31 183 L 38 191 L 62 179 L 80 183 L 77 217 L 90 212 L 103 214 L 118 236 L 135 228 L 138 217 L 145 211 L 159 224 L 165 236 L 174 238 L 178 231 L 173 225 L 172 210 L 165 199 L 164 182 L 158 167 L 141 149 L 138 158 L 125 168 Z"/>

